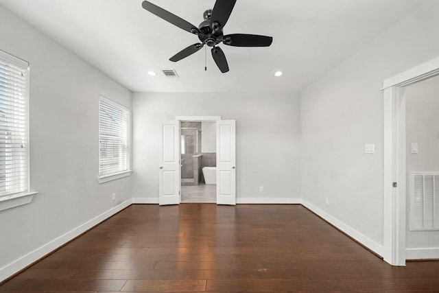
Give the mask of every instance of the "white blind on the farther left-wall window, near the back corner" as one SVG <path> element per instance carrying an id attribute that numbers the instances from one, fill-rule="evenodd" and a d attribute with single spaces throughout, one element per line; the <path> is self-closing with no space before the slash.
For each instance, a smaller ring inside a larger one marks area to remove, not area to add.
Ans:
<path id="1" fill-rule="evenodd" d="M 99 102 L 99 177 L 128 171 L 128 108 L 106 97 Z"/>

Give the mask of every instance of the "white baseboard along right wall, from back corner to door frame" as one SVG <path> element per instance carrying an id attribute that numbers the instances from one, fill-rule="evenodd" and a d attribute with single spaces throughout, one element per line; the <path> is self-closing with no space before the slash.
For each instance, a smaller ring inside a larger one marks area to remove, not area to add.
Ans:
<path id="1" fill-rule="evenodd" d="M 383 245 L 378 244 L 377 242 L 373 241 L 372 239 L 366 237 L 365 235 L 359 233 L 355 229 L 351 228 L 350 226 L 344 224 L 340 220 L 337 220 L 332 215 L 329 215 L 326 211 L 323 211 L 322 209 L 319 209 L 315 205 L 307 202 L 306 200 L 302 199 L 302 205 L 312 211 L 313 213 L 316 213 L 319 217 L 323 218 L 333 226 L 340 229 L 340 231 L 343 231 L 353 239 L 355 239 L 357 242 L 361 243 L 362 245 L 366 246 L 370 250 L 372 250 L 377 255 L 383 255 L 384 253 L 384 247 Z"/>

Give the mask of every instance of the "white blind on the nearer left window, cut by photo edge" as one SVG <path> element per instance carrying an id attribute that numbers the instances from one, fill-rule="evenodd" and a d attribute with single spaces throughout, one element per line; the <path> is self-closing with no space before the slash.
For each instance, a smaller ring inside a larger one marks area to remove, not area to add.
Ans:
<path id="1" fill-rule="evenodd" d="M 29 189 L 29 63 L 0 50 L 0 197 Z"/>

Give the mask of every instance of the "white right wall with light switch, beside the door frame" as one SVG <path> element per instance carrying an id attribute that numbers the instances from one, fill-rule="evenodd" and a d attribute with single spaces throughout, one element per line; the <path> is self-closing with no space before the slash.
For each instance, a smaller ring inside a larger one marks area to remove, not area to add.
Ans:
<path id="1" fill-rule="evenodd" d="M 439 1 L 407 16 L 301 93 L 304 202 L 383 248 L 383 80 L 439 56 Z M 375 143 L 375 154 L 364 144 Z M 325 204 L 329 198 L 329 206 Z"/>

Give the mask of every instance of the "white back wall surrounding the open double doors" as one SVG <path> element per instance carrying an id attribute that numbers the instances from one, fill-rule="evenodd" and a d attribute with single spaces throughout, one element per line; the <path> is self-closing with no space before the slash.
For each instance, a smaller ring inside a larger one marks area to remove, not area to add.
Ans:
<path id="1" fill-rule="evenodd" d="M 294 95 L 133 94 L 134 202 L 158 202 L 161 121 L 176 116 L 236 120 L 237 202 L 293 202 L 300 195 L 300 101 Z M 263 185 L 264 192 L 259 192 Z"/>

